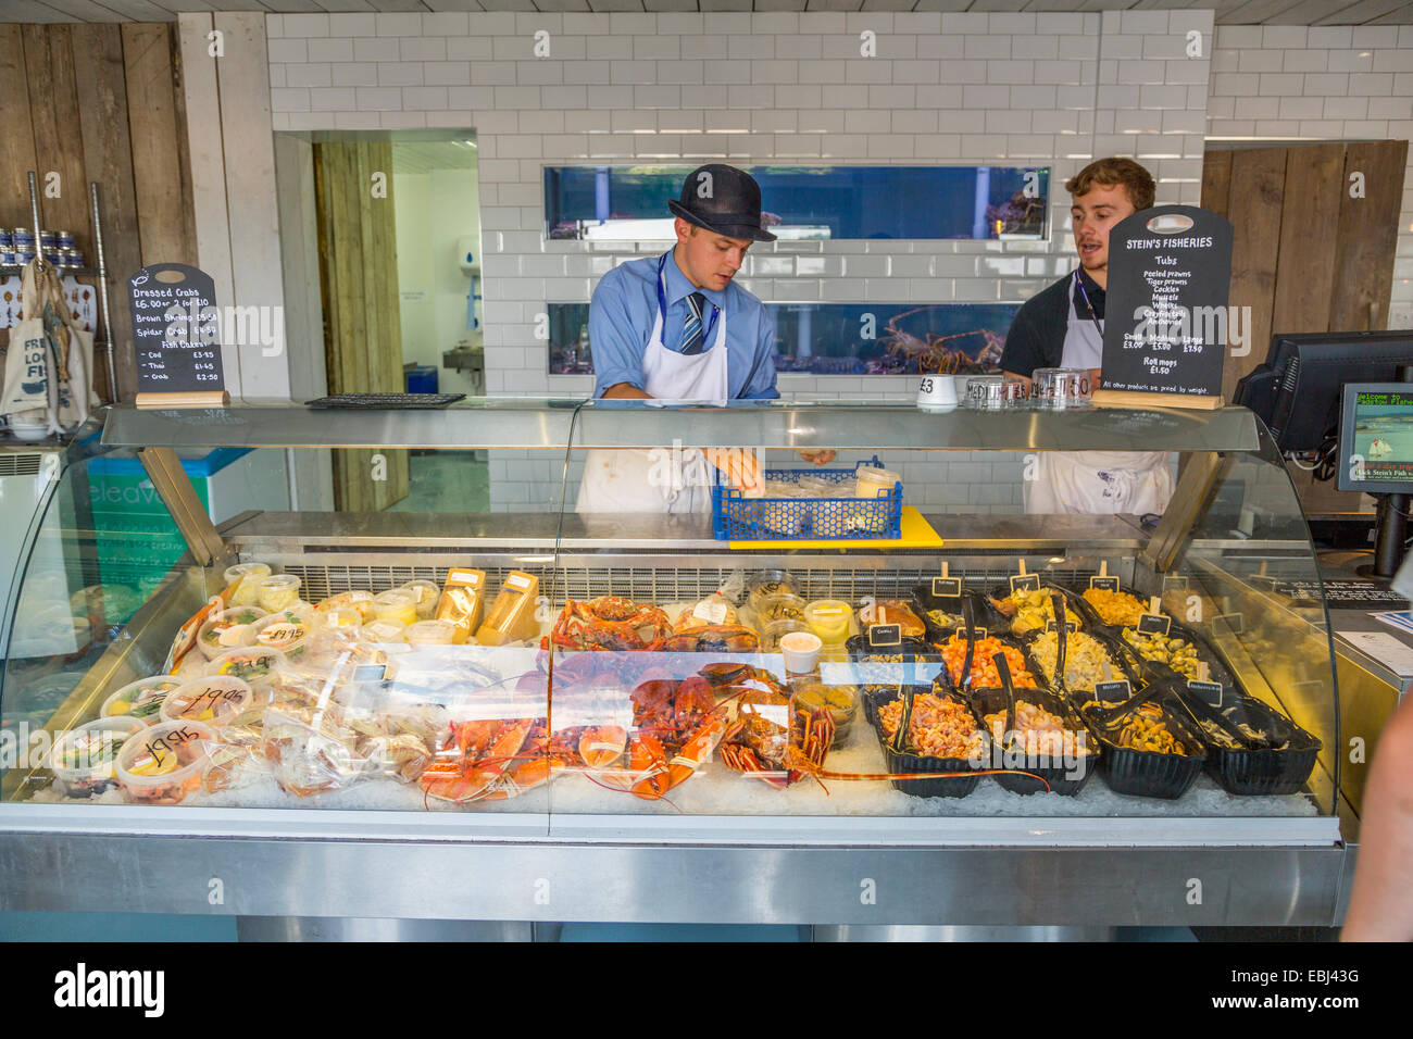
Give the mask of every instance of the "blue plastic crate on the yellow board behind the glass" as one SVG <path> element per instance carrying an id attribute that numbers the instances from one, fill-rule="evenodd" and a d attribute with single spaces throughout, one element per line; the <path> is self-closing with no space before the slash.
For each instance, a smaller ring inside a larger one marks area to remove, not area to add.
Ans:
<path id="1" fill-rule="evenodd" d="M 877 455 L 863 465 L 883 468 Z M 818 476 L 849 483 L 841 498 L 745 498 L 721 483 L 712 488 L 712 532 L 718 541 L 858 541 L 899 539 L 903 533 L 903 483 L 880 498 L 852 495 L 855 469 L 766 469 L 764 479 L 794 483 Z"/>

